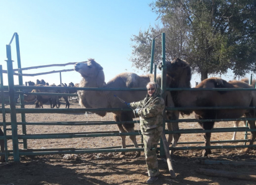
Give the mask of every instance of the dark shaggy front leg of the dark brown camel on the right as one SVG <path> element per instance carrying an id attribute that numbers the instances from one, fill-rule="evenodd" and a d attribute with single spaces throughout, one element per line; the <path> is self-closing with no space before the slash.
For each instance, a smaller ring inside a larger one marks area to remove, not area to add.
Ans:
<path id="1" fill-rule="evenodd" d="M 203 130 L 211 130 L 213 129 L 214 122 L 199 122 L 201 127 L 203 127 Z M 205 147 L 211 146 L 211 133 L 204 133 L 204 144 Z M 211 154 L 211 149 L 204 149 L 202 156 L 208 156 Z"/>

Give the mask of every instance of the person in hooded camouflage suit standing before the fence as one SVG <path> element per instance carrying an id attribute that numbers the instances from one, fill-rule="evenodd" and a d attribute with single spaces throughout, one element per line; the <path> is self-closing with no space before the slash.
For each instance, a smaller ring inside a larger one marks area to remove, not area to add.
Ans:
<path id="1" fill-rule="evenodd" d="M 149 179 L 147 183 L 153 183 L 158 179 L 159 169 L 157 162 L 157 144 L 163 132 L 163 110 L 165 101 L 162 98 L 162 90 L 157 83 L 147 84 L 148 93 L 145 99 L 130 103 L 130 107 L 140 116 L 140 130 L 143 135 L 145 160 Z"/>

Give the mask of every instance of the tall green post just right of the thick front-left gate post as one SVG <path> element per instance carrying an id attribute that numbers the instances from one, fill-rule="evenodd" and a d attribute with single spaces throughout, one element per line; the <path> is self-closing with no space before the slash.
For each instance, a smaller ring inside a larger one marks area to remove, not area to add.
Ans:
<path id="1" fill-rule="evenodd" d="M 19 35 L 17 33 L 15 33 L 15 39 L 16 39 L 16 52 L 17 52 L 17 63 L 18 63 L 18 73 L 19 73 L 19 85 L 23 86 L 23 80 L 22 80 L 22 70 L 21 69 L 21 52 L 19 50 Z M 23 91 L 23 89 L 20 89 L 19 91 Z M 24 106 L 24 95 L 20 94 L 20 104 L 21 104 L 21 108 L 25 108 Z M 25 113 L 21 114 L 21 121 L 25 122 Z M 27 135 L 27 129 L 26 129 L 26 125 L 22 125 L 22 134 L 23 135 Z M 27 149 L 27 140 L 23 139 L 23 148 Z"/>

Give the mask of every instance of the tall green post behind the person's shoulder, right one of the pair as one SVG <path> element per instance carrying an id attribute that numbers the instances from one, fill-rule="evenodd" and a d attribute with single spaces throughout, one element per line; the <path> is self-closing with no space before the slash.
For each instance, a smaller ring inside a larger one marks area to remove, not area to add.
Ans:
<path id="1" fill-rule="evenodd" d="M 165 33 L 162 33 L 162 91 L 163 91 L 163 99 L 165 99 L 165 91 L 167 89 L 167 66 L 165 65 Z M 163 133 L 165 133 L 165 117 L 166 113 L 163 111 Z M 160 156 L 165 156 L 165 149 L 163 148 L 163 140 L 160 140 Z"/>

